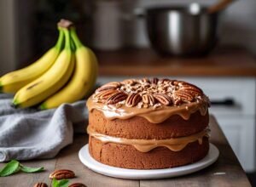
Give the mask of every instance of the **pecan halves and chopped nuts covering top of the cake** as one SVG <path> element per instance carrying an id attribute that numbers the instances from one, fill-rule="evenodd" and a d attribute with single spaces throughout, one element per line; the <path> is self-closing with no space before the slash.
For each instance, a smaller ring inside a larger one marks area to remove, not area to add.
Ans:
<path id="1" fill-rule="evenodd" d="M 183 81 L 143 78 L 123 82 L 109 82 L 97 88 L 93 102 L 137 108 L 178 106 L 204 100 L 201 88 Z"/>

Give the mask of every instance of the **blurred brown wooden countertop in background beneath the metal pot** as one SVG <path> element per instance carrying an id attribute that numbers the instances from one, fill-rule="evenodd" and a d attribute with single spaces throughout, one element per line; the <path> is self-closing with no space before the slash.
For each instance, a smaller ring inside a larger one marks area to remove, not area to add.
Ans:
<path id="1" fill-rule="evenodd" d="M 201 58 L 163 57 L 152 49 L 96 55 L 100 76 L 256 77 L 255 58 L 242 48 L 217 48 Z"/>

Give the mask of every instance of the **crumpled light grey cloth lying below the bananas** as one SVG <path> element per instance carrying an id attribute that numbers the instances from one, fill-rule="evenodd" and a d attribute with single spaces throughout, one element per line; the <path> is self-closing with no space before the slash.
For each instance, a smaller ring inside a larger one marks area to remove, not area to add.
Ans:
<path id="1" fill-rule="evenodd" d="M 57 109 L 15 109 L 13 96 L 0 94 L 0 162 L 52 158 L 73 143 L 73 126 L 84 131 L 88 112 L 85 101 Z"/>

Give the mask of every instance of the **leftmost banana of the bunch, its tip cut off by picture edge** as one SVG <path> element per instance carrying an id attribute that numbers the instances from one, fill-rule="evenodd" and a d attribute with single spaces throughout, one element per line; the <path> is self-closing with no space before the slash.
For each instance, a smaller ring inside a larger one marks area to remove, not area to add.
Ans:
<path id="1" fill-rule="evenodd" d="M 61 52 L 64 33 L 59 29 L 59 37 L 53 48 L 50 48 L 40 59 L 18 71 L 12 71 L 1 77 L 0 91 L 16 93 L 20 88 L 44 74 L 54 64 Z"/>

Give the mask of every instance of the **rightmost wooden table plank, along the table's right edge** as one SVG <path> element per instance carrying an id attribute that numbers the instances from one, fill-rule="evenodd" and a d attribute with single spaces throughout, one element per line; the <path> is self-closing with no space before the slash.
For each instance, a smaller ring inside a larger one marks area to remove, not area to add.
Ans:
<path id="1" fill-rule="evenodd" d="M 218 161 L 199 172 L 178 178 L 142 180 L 142 187 L 151 186 L 251 186 L 233 150 L 215 118 L 210 118 L 211 139 L 220 151 Z"/>

